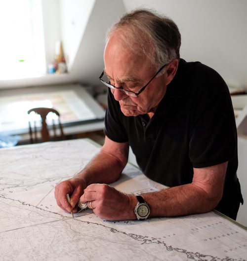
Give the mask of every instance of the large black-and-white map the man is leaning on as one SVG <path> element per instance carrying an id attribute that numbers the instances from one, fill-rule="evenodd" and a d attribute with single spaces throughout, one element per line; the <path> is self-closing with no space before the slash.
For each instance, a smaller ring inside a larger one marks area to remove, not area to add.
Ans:
<path id="1" fill-rule="evenodd" d="M 214 212 L 108 222 L 61 210 L 54 186 L 99 150 L 88 140 L 0 149 L 0 261 L 247 260 L 247 231 Z M 140 194 L 164 187 L 128 165 L 113 184 Z"/>

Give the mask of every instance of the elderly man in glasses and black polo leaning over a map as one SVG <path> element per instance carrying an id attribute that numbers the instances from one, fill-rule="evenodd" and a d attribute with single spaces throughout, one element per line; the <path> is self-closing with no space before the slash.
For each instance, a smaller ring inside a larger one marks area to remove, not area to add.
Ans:
<path id="1" fill-rule="evenodd" d="M 80 199 L 106 220 L 212 209 L 236 219 L 243 198 L 229 91 L 214 70 L 180 59 L 180 43 L 174 22 L 148 10 L 113 26 L 100 75 L 109 87 L 105 143 L 76 177 L 56 186 L 62 209 L 76 212 Z M 170 188 L 135 196 L 106 185 L 119 179 L 129 146 L 143 173 Z"/>

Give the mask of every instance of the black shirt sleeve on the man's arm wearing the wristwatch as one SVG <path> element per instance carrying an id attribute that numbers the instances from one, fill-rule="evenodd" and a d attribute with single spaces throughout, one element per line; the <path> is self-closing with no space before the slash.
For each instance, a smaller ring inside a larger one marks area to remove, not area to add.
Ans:
<path id="1" fill-rule="evenodd" d="M 237 130 L 226 83 L 215 71 L 211 72 L 206 82 L 198 87 L 194 100 L 189 137 L 193 167 L 231 160 L 237 155 Z"/>

